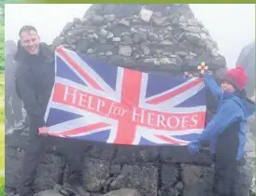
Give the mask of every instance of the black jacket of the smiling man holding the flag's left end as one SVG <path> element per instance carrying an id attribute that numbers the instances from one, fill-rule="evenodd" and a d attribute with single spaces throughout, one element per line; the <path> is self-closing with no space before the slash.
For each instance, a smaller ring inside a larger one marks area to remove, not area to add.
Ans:
<path id="1" fill-rule="evenodd" d="M 17 94 L 30 119 L 42 127 L 54 84 L 54 52 L 41 43 L 39 54 L 30 55 L 19 42 L 15 59 L 18 63 L 15 73 Z"/>

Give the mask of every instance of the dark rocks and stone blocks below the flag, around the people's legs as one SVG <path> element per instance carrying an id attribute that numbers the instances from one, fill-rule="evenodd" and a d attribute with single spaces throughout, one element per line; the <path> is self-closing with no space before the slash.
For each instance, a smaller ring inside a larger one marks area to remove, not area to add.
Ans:
<path id="1" fill-rule="evenodd" d="M 26 133 L 6 136 L 6 190 L 9 196 L 19 189 Z M 53 189 L 56 184 L 62 185 L 66 181 L 68 164 L 62 154 L 58 147 L 51 146 L 46 150 L 37 172 L 36 190 Z M 107 193 L 114 196 L 109 191 L 124 188 L 136 189 L 141 196 L 213 195 L 214 164 L 207 151 L 192 157 L 186 147 L 114 147 L 90 143 L 85 144 L 81 156 L 85 160 L 83 187 L 91 196 Z M 244 177 L 239 183 L 243 196 L 247 196 L 244 193 L 249 189 L 252 161 L 248 159 L 248 163 L 241 166 Z"/>

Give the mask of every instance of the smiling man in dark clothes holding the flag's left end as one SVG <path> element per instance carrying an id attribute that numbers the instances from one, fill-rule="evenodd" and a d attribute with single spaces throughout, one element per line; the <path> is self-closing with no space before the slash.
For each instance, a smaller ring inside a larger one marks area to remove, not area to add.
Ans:
<path id="1" fill-rule="evenodd" d="M 29 141 L 22 161 L 20 196 L 32 196 L 36 167 L 46 144 L 46 137 L 39 134 L 38 130 L 41 128 L 47 133 L 44 115 L 54 84 L 54 53 L 47 44 L 40 42 L 35 27 L 23 26 L 19 35 L 15 82 L 18 95 L 29 116 Z M 70 189 L 80 196 L 88 195 L 81 187 L 82 147 L 78 146 L 78 141 L 71 140 L 72 147 L 66 146 L 66 140 L 62 142 L 65 144 L 66 157 L 71 166 L 71 176 L 68 178 Z"/>

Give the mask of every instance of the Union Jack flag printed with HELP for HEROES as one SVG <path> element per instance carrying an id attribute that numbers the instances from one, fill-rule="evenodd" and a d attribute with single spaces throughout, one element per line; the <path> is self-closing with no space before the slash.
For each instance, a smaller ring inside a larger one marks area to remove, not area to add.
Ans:
<path id="1" fill-rule="evenodd" d="M 187 145 L 202 133 L 202 78 L 143 73 L 55 51 L 45 120 L 51 135 L 122 145 Z"/>

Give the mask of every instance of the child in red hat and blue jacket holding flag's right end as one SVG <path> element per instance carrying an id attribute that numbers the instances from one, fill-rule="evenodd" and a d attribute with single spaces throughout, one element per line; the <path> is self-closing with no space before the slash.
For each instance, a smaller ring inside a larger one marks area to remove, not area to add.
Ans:
<path id="1" fill-rule="evenodd" d="M 246 97 L 247 80 L 244 68 L 239 65 L 224 74 L 220 86 L 207 73 L 204 76 L 218 109 L 188 149 L 196 154 L 202 143 L 210 143 L 210 151 L 216 155 L 216 196 L 238 196 L 235 193 L 235 178 L 239 177 L 237 163 L 243 158 L 247 119 L 254 112 L 254 103 Z"/>

